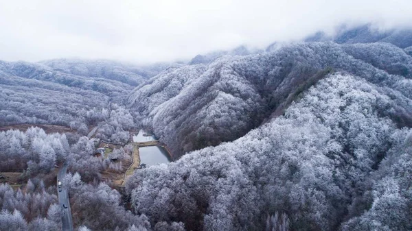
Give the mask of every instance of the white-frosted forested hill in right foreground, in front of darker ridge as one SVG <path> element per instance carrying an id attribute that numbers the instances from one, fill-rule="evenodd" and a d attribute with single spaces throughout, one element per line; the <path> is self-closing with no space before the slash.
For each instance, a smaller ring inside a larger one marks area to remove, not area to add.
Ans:
<path id="1" fill-rule="evenodd" d="M 389 114 L 412 94 L 367 78 L 328 75 L 242 138 L 137 171 L 135 212 L 187 230 L 410 230 L 412 132 Z"/>

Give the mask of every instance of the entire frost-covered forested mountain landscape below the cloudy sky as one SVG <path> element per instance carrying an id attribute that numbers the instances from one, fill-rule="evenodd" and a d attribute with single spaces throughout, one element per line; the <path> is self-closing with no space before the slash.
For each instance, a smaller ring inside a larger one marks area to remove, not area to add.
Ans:
<path id="1" fill-rule="evenodd" d="M 179 63 L 1 61 L 0 99 L 0 127 L 71 130 L 0 132 L 0 171 L 20 174 L 0 230 L 60 230 L 63 163 L 77 230 L 412 230 L 405 27 Z M 173 161 L 134 169 L 138 130 Z"/>

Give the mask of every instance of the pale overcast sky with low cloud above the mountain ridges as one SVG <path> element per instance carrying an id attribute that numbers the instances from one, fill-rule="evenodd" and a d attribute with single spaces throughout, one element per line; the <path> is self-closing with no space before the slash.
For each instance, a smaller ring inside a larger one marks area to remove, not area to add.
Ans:
<path id="1" fill-rule="evenodd" d="M 298 40 L 341 23 L 411 26 L 411 0 L 0 0 L 0 60 L 188 59 Z"/>

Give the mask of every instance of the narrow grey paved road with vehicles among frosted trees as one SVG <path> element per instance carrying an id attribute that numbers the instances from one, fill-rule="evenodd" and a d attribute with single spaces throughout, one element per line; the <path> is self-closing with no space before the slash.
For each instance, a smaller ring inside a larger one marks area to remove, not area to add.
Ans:
<path id="1" fill-rule="evenodd" d="M 67 163 L 63 165 L 63 167 L 58 171 L 57 175 L 57 182 L 62 180 L 67 172 Z M 62 216 L 62 228 L 63 231 L 73 231 L 73 220 L 71 219 L 71 208 L 70 208 L 70 203 L 69 203 L 69 193 L 67 192 L 67 187 L 63 184 L 62 185 L 62 191 L 58 191 L 58 186 L 57 186 L 57 193 L 58 193 L 58 204 L 60 205 L 60 208 L 63 210 L 63 216 Z M 63 204 L 67 205 L 67 208 L 63 208 Z"/>

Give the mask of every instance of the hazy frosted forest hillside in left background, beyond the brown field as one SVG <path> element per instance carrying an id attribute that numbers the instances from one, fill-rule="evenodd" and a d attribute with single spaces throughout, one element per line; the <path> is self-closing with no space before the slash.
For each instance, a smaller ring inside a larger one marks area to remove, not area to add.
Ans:
<path id="1" fill-rule="evenodd" d="M 87 113 L 105 117 L 96 114 L 123 104 L 130 90 L 163 68 L 104 60 L 0 62 L 0 125 L 88 124 Z"/>

